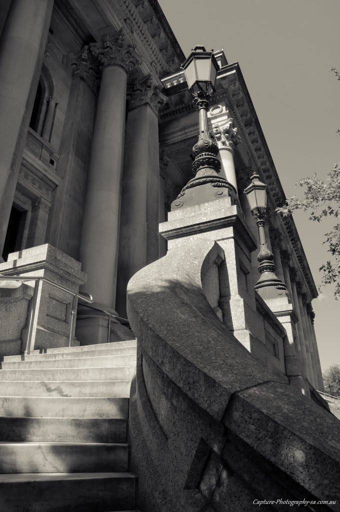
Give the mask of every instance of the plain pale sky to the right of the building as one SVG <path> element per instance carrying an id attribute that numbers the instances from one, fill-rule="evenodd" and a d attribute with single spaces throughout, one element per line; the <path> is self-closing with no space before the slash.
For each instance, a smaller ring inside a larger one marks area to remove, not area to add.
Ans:
<path id="1" fill-rule="evenodd" d="M 340 162 L 340 0 L 159 0 L 187 56 L 196 45 L 238 61 L 286 196 L 299 178 L 326 176 Z M 316 285 L 327 260 L 327 226 L 294 214 Z M 312 302 L 323 371 L 340 364 L 340 301 Z"/>

